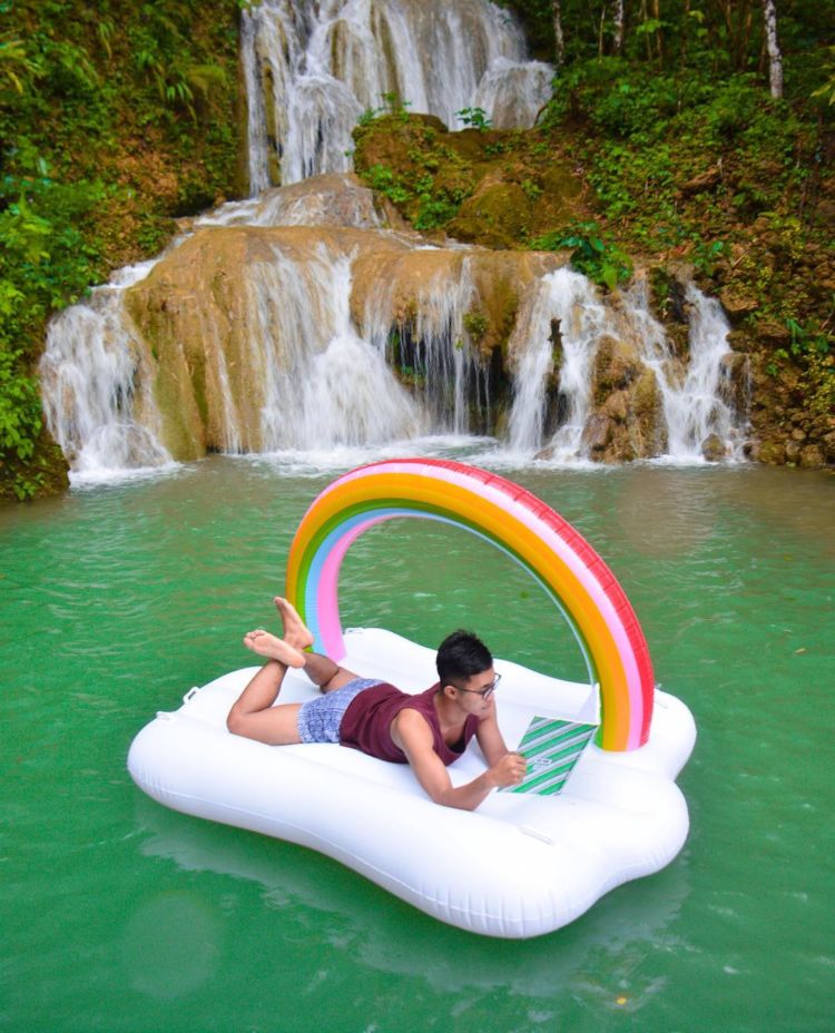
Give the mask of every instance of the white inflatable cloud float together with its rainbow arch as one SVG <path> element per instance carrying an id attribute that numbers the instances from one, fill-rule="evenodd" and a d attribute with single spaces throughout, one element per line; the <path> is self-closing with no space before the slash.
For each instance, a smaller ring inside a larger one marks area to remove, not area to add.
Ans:
<path id="1" fill-rule="evenodd" d="M 681 849 L 688 814 L 675 778 L 692 750 L 692 717 L 655 688 L 635 613 L 591 547 L 529 492 L 460 463 L 376 463 L 316 499 L 291 548 L 286 588 L 315 649 L 405 691 L 436 680 L 434 650 L 382 629 L 343 633 L 338 618 L 338 570 L 351 543 L 382 520 L 410 515 L 499 545 L 573 627 L 590 685 L 495 660 L 509 745 L 534 715 L 591 722 L 599 715 L 597 741 L 559 796 L 493 793 L 478 810 L 460 811 L 433 804 L 405 765 L 340 746 L 269 747 L 233 736 L 226 715 L 256 668 L 193 689 L 178 710 L 159 714 L 134 740 L 128 767 L 175 810 L 312 847 L 451 925 L 502 937 L 549 933 Z M 291 671 L 281 698 L 314 693 Z M 483 766 L 473 740 L 449 771 L 458 785 Z"/>

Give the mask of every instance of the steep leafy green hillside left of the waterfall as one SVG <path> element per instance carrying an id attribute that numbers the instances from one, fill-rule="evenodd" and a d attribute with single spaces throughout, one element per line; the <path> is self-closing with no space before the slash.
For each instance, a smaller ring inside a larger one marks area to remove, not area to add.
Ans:
<path id="1" fill-rule="evenodd" d="M 49 316 L 235 193 L 237 10 L 0 3 L 0 496 L 52 461 L 32 372 Z"/>

